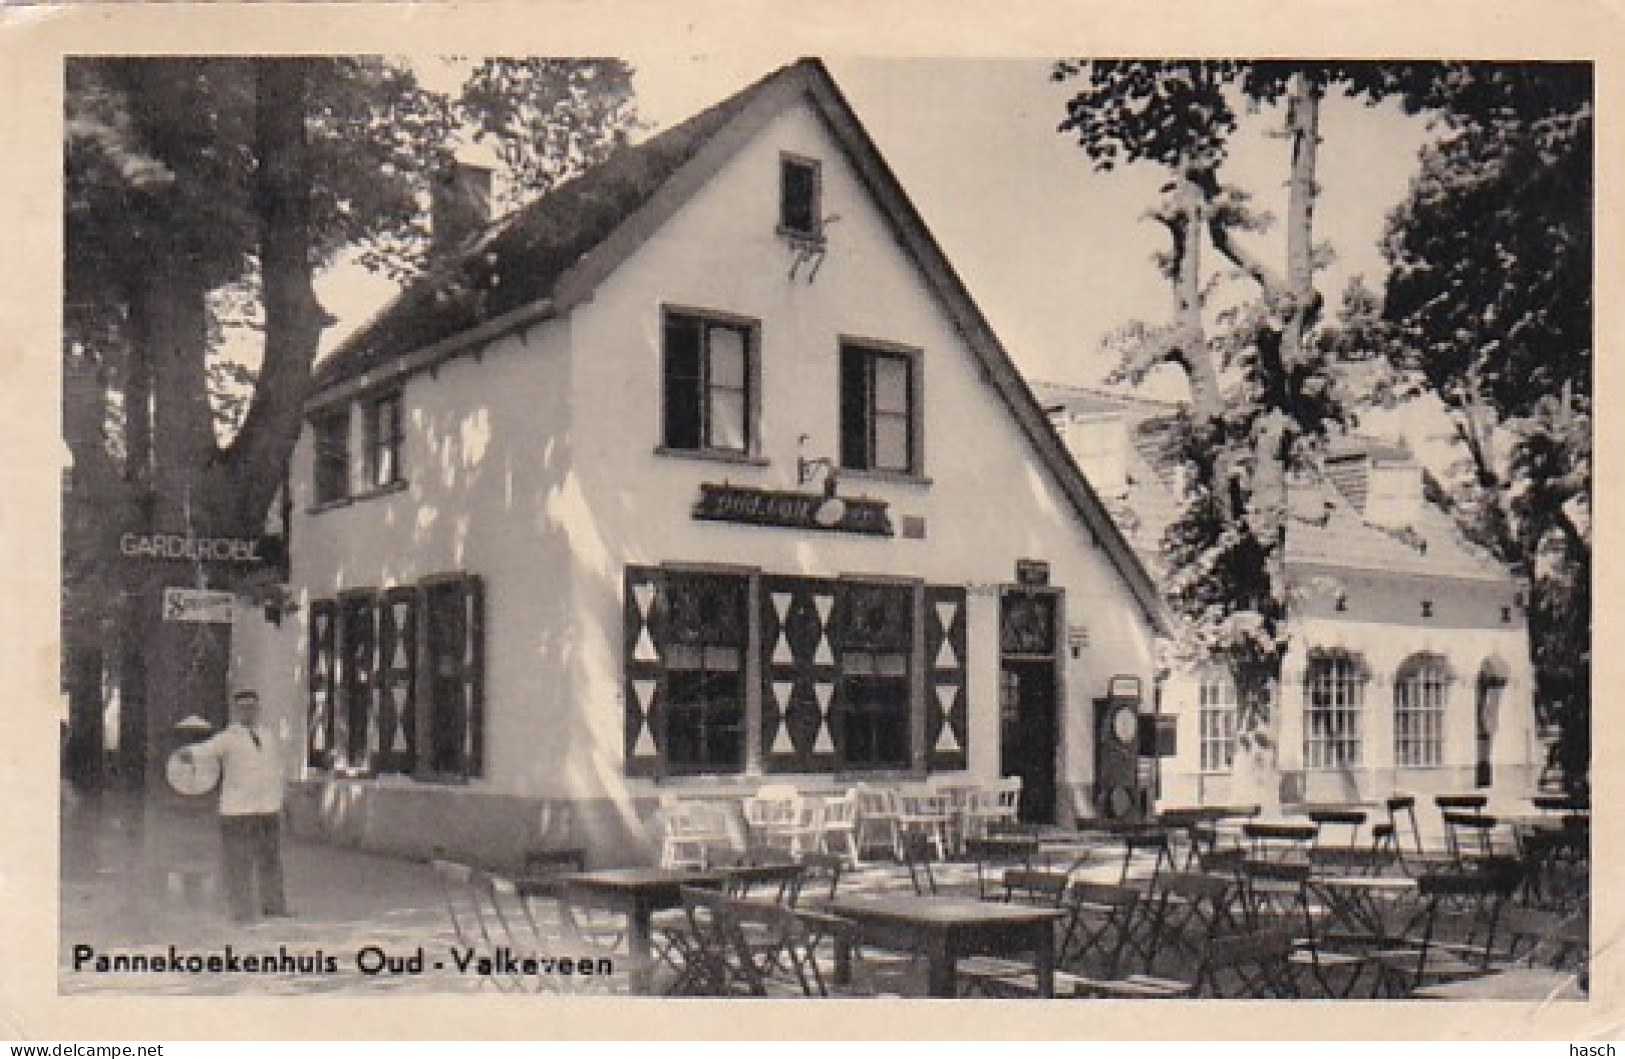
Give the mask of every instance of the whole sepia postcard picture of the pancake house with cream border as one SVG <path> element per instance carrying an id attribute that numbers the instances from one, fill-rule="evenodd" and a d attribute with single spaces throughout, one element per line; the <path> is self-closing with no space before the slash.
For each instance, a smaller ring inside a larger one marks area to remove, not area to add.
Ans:
<path id="1" fill-rule="evenodd" d="M 1610 67 L 1084 6 L 57 55 L 36 984 L 1615 1025 Z"/>

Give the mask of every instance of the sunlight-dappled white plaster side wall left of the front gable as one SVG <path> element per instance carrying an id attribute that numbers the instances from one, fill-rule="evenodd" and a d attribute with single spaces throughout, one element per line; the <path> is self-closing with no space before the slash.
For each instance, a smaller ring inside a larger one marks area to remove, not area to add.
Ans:
<path id="1" fill-rule="evenodd" d="M 296 687 L 302 694 L 310 601 L 436 573 L 479 575 L 486 775 L 476 789 L 561 791 L 582 749 L 575 700 L 559 679 L 575 650 L 569 572 L 578 495 L 566 349 L 567 326 L 551 322 L 478 359 L 413 375 L 403 390 L 405 491 L 312 512 L 309 434 L 294 453 Z M 353 424 L 361 417 L 358 404 Z M 361 463 L 359 440 L 358 426 L 353 465 Z"/>

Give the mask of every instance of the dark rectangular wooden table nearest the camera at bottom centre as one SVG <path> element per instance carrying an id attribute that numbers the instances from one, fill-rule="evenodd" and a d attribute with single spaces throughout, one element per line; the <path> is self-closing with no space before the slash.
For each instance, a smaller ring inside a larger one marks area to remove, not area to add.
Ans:
<path id="1" fill-rule="evenodd" d="M 952 897 L 835 898 L 830 914 L 853 924 L 856 940 L 926 958 L 926 994 L 952 997 L 960 957 L 1034 955 L 1038 996 L 1055 996 L 1055 923 L 1060 908 L 994 905 Z M 852 981 L 848 932 L 835 937 L 835 981 Z"/>

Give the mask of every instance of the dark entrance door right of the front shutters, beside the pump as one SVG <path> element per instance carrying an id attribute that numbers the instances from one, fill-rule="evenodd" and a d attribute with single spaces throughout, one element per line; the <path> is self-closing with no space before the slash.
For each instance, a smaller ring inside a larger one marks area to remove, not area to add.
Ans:
<path id="1" fill-rule="evenodd" d="M 1058 594 L 1008 591 L 999 630 L 999 772 L 1020 776 L 1020 819 L 1055 823 Z"/>

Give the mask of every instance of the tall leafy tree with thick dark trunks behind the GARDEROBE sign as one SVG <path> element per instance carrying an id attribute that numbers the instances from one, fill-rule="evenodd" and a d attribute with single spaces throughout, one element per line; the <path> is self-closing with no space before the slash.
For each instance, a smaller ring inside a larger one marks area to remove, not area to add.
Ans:
<path id="1" fill-rule="evenodd" d="M 317 270 L 348 250 L 416 271 L 419 192 L 465 128 L 496 141 L 528 193 L 600 161 L 634 120 L 630 68 L 488 60 L 450 97 L 377 58 L 75 58 L 67 89 L 67 495 L 104 512 L 65 518 L 65 620 L 78 622 L 67 640 L 89 645 L 94 624 L 119 617 L 125 760 L 138 768 L 166 737 L 140 731 L 141 718 L 208 716 L 224 692 L 224 637 L 164 627 L 161 590 L 231 575 L 172 564 L 109 575 L 110 541 L 120 530 L 258 538 L 332 323 Z M 216 296 L 231 287 L 257 302 L 260 356 L 223 442 L 208 354 Z M 93 780 L 101 703 L 88 669 L 70 708 L 75 760 Z"/>

